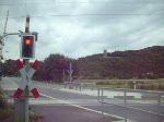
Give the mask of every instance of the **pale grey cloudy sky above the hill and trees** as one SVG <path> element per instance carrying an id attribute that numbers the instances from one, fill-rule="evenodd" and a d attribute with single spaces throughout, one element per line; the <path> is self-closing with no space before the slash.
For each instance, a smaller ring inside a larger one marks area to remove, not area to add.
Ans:
<path id="1" fill-rule="evenodd" d="M 7 33 L 24 32 L 31 15 L 38 60 L 164 46 L 164 0 L 0 0 L 0 35 L 8 10 Z M 5 39 L 4 58 L 20 59 L 20 37 Z"/>

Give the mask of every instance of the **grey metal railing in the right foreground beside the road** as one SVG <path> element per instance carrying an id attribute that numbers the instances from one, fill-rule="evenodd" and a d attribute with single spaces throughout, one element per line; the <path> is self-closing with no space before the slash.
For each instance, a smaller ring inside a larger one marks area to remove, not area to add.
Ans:
<path id="1" fill-rule="evenodd" d="M 164 117 L 164 91 L 98 88 L 98 101 Z"/>

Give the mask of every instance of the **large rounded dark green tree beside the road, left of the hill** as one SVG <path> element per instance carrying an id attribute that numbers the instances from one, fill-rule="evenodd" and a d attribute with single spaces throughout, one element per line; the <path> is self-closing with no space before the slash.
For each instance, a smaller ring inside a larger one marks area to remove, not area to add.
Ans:
<path id="1" fill-rule="evenodd" d="M 42 62 L 36 77 L 44 81 L 61 82 L 63 70 L 69 70 L 70 62 L 73 62 L 73 60 L 62 54 L 50 54 Z"/>

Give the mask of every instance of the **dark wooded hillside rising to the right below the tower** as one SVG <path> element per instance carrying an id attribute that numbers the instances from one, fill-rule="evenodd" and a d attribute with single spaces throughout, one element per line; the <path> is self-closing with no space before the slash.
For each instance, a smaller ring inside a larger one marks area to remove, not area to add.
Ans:
<path id="1" fill-rule="evenodd" d="M 115 51 L 103 58 L 94 54 L 77 60 L 83 78 L 162 78 L 164 77 L 164 46 L 141 50 Z"/>

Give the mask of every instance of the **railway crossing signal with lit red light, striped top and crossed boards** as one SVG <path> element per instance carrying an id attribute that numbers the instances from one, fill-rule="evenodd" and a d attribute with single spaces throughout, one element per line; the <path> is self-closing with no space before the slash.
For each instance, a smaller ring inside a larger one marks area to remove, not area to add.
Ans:
<path id="1" fill-rule="evenodd" d="M 20 60 L 15 62 L 22 75 L 22 82 L 14 94 L 14 98 L 23 97 L 23 101 L 21 99 L 14 99 L 14 108 L 17 108 L 14 109 L 14 121 L 17 121 L 19 119 L 22 122 L 28 122 L 28 97 L 34 96 L 37 98 L 40 96 L 31 80 L 38 68 L 39 62 L 35 61 L 30 69 L 30 59 L 35 58 L 35 41 L 37 40 L 37 34 L 38 33 L 36 32 L 30 32 L 30 15 L 26 16 L 25 33 L 20 32 L 19 34 L 10 34 L 19 35 L 19 37 L 21 36 L 20 57 L 23 59 L 23 63 Z M 30 96 L 30 90 L 33 96 Z M 24 96 L 22 96 L 22 94 Z"/>

